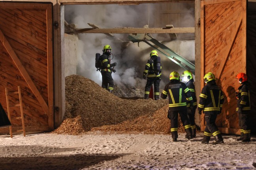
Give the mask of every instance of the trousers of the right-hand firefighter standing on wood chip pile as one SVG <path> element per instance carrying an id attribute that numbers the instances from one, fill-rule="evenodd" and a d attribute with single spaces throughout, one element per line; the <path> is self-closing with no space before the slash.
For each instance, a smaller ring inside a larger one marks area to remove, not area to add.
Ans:
<path id="1" fill-rule="evenodd" d="M 159 85 L 160 85 L 161 78 L 156 77 L 156 78 L 147 78 L 147 83 L 145 86 L 145 98 L 149 97 L 149 92 L 151 89 L 152 84 L 154 83 L 154 96 L 155 98 L 159 98 Z"/>

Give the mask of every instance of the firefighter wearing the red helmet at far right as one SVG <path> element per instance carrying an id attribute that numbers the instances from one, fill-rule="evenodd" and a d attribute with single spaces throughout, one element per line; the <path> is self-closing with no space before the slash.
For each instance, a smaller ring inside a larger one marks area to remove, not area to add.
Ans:
<path id="1" fill-rule="evenodd" d="M 239 126 L 241 132 L 241 136 L 237 141 L 242 140 L 242 142 L 250 142 L 250 91 L 247 75 L 245 73 L 239 73 L 235 78 L 237 78 L 239 84 L 241 84 L 235 97 L 237 99 L 236 111 L 239 115 Z"/>

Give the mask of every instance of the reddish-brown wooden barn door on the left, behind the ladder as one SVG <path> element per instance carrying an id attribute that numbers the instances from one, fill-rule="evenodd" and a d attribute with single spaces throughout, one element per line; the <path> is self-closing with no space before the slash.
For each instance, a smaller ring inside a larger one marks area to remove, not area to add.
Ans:
<path id="1" fill-rule="evenodd" d="M 54 127 L 52 31 L 51 3 L 0 2 L 0 103 L 7 111 L 5 87 L 21 87 L 26 132 Z M 10 105 L 17 99 L 9 97 Z M 19 109 L 11 107 L 11 116 Z M 22 129 L 21 120 L 12 120 L 12 127 Z"/>

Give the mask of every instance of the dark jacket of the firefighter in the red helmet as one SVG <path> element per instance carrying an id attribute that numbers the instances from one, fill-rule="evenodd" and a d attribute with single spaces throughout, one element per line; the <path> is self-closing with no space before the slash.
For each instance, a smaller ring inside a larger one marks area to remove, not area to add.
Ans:
<path id="1" fill-rule="evenodd" d="M 239 92 L 236 95 L 237 99 L 237 108 L 241 108 L 242 111 L 250 110 L 250 91 L 248 88 L 248 81 L 242 83 L 242 85 L 238 88 Z"/>

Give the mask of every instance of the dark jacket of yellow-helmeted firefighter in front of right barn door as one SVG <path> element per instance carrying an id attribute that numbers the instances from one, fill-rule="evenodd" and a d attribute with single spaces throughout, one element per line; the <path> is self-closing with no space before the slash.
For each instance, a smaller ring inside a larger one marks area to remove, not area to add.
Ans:
<path id="1" fill-rule="evenodd" d="M 205 87 L 203 87 L 199 97 L 198 111 L 203 110 L 203 113 L 214 114 L 221 113 L 224 96 L 220 87 L 216 85 L 214 80 L 209 81 Z"/>

